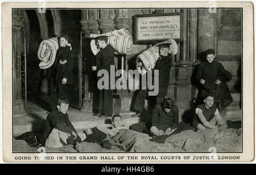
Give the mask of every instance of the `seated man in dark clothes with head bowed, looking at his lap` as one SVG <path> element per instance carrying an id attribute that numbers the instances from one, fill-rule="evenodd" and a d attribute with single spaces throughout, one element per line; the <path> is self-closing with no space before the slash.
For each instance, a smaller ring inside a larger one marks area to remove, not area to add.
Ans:
<path id="1" fill-rule="evenodd" d="M 177 129 L 179 123 L 179 109 L 171 98 L 164 99 L 163 103 L 156 105 L 152 114 L 153 135 L 170 135 Z"/>

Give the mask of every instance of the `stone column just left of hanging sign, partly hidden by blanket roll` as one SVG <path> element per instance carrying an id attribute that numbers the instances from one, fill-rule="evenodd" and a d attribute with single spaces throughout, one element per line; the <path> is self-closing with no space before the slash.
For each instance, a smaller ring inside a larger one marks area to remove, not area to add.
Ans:
<path id="1" fill-rule="evenodd" d="M 116 29 L 129 29 L 131 26 L 131 19 L 128 18 L 128 10 L 127 9 L 118 9 L 115 10 L 116 18 L 114 19 L 115 28 Z M 121 69 L 126 73 L 127 76 L 127 70 L 126 70 L 126 55 L 119 55 L 118 56 L 118 69 Z M 122 75 L 122 84 L 126 84 L 127 87 L 129 87 L 128 77 L 125 77 Z M 133 100 L 133 94 L 130 93 L 128 89 L 121 89 L 117 90 L 117 93 L 114 94 L 114 112 L 115 113 L 121 113 L 121 114 L 130 114 L 130 108 L 131 108 L 131 101 Z M 118 106 L 118 108 L 117 108 Z"/>

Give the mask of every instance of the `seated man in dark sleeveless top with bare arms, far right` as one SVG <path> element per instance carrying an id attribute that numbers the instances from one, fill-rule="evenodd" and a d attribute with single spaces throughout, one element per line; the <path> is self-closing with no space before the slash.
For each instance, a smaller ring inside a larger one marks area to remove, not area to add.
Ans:
<path id="1" fill-rule="evenodd" d="M 192 126 L 199 130 L 215 128 L 224 130 L 227 128 L 226 122 L 221 117 L 216 105 L 214 104 L 213 95 L 208 93 L 204 98 L 204 104 L 196 107 Z"/>

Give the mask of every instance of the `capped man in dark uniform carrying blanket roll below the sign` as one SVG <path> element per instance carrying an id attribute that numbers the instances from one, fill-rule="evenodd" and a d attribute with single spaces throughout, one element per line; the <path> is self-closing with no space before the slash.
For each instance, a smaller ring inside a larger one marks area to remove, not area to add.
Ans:
<path id="1" fill-rule="evenodd" d="M 159 92 L 156 95 L 156 104 L 163 103 L 165 96 L 167 95 L 169 79 L 170 79 L 170 70 L 172 66 L 172 57 L 171 54 L 168 53 L 170 50 L 170 44 L 160 44 L 159 54 L 160 57 L 155 63 L 154 70 L 159 70 L 159 77 L 153 77 L 159 79 Z M 153 73 L 154 73 L 153 70 Z M 154 82 L 154 80 L 152 80 Z M 145 99 L 147 97 L 148 89 L 141 89 L 138 92 L 138 95 L 135 100 L 134 109 L 137 110 L 137 113 L 132 117 L 140 116 L 144 110 Z"/>

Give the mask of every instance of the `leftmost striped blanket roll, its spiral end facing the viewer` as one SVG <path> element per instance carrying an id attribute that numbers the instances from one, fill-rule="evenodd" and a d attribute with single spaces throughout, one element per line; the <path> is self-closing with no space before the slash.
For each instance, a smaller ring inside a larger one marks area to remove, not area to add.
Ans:
<path id="1" fill-rule="evenodd" d="M 38 58 L 41 61 L 39 63 L 40 69 L 47 69 L 52 66 L 55 61 L 57 49 L 59 49 L 57 37 L 41 42 L 38 49 Z"/>

